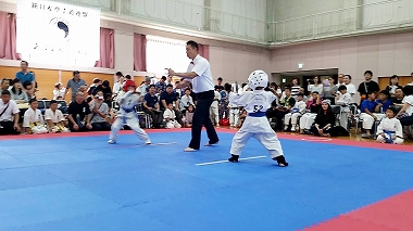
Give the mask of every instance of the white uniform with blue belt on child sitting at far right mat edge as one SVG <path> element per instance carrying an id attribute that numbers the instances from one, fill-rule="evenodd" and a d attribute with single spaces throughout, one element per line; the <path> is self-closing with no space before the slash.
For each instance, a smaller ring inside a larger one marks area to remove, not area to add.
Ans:
<path id="1" fill-rule="evenodd" d="M 386 133 L 386 131 L 388 133 Z M 397 118 L 384 118 L 377 127 L 377 142 L 385 143 L 386 139 L 381 137 L 380 133 L 385 133 L 387 139 L 392 139 L 396 136 L 396 139 L 392 140 L 395 144 L 403 143 L 403 128 L 400 124 L 400 120 Z"/>

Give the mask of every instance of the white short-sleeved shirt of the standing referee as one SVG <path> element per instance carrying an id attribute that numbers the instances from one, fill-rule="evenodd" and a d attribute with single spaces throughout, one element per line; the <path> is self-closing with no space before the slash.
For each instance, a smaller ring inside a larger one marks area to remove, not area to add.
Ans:
<path id="1" fill-rule="evenodd" d="M 208 62 L 205 57 L 198 54 L 193 61 L 190 62 L 188 72 L 197 74 L 197 77 L 192 79 L 192 91 L 195 93 L 214 90 L 214 80 L 212 79 L 210 62 Z"/>

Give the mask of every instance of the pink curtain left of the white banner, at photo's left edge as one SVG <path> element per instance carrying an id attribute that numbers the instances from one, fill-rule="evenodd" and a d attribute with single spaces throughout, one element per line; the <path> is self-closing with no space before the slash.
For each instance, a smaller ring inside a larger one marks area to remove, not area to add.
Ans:
<path id="1" fill-rule="evenodd" d="M 21 60 L 16 51 L 15 14 L 0 12 L 0 59 Z"/>

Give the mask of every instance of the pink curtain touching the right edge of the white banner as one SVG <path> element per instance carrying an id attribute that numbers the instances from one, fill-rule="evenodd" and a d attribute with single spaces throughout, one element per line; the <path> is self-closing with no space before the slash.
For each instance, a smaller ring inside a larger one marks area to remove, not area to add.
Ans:
<path id="1" fill-rule="evenodd" d="M 100 28 L 100 60 L 96 62 L 95 67 L 104 67 L 113 69 L 114 65 L 114 30 Z"/>

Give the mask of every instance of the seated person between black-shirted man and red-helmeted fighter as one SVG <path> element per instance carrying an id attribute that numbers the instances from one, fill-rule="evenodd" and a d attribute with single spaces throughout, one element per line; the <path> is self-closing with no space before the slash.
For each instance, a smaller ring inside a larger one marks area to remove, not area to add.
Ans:
<path id="1" fill-rule="evenodd" d="M 95 99 L 90 102 L 90 124 L 95 131 L 110 131 L 111 125 L 107 121 L 109 106 L 103 101 L 103 92 L 96 92 Z"/>

